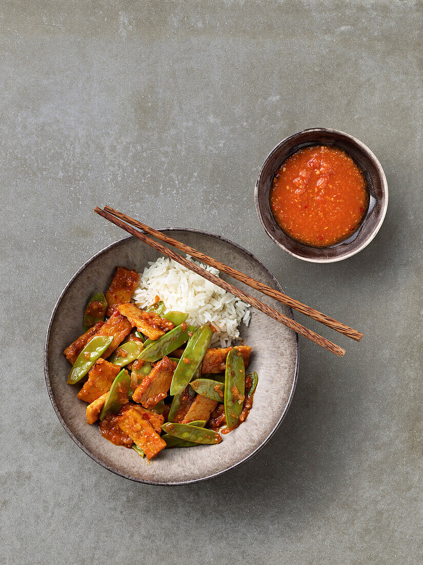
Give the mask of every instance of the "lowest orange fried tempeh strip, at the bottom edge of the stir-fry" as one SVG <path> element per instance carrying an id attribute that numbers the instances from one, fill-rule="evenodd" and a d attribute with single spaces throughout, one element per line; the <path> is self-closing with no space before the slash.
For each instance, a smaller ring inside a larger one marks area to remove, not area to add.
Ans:
<path id="1" fill-rule="evenodd" d="M 118 426 L 144 451 L 147 459 L 155 457 L 166 447 L 148 420 L 135 408 L 130 407 L 117 420 Z"/>

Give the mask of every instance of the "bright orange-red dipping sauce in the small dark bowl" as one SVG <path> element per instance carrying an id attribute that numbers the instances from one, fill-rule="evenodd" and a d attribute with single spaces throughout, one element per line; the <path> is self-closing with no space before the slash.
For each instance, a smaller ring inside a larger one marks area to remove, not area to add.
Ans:
<path id="1" fill-rule="evenodd" d="M 285 160 L 274 176 L 270 208 L 294 240 L 327 247 L 359 227 L 369 205 L 362 171 L 341 149 L 306 147 Z"/>

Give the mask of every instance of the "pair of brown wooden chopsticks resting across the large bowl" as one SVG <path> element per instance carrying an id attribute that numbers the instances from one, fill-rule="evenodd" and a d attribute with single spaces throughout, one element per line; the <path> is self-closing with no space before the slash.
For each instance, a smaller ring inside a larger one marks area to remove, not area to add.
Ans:
<path id="1" fill-rule="evenodd" d="M 105 218 L 106 220 L 111 221 L 112 224 L 117 225 L 118 227 L 124 229 L 125 232 L 130 233 L 131 235 L 137 237 L 139 240 L 144 241 L 144 243 L 146 243 L 147 245 L 159 251 L 161 254 L 166 255 L 166 257 L 169 257 L 170 259 L 174 259 L 177 263 L 180 263 L 181 265 L 187 267 L 191 271 L 196 272 L 198 275 L 204 277 L 204 279 L 207 279 L 213 282 L 215 285 L 220 286 L 221 288 L 223 288 L 227 292 L 230 292 L 237 298 L 240 298 L 241 300 L 253 306 L 254 308 L 257 308 L 257 310 L 260 310 L 267 316 L 270 316 L 270 318 L 279 321 L 281 324 L 284 324 L 288 328 L 293 329 L 294 332 L 297 332 L 302 336 L 307 337 L 315 344 L 324 347 L 328 351 L 332 351 L 332 353 L 339 355 L 339 357 L 343 357 L 343 355 L 345 354 L 345 349 L 342 349 L 342 347 L 332 343 L 332 341 L 329 341 L 322 336 L 319 336 L 318 333 L 315 333 L 311 329 L 306 328 L 305 326 L 299 324 L 295 320 L 288 318 L 288 316 L 281 314 L 281 312 L 274 310 L 274 308 L 267 306 L 267 304 L 257 300 L 257 298 L 254 298 L 250 294 L 247 294 L 243 290 L 240 290 L 236 286 L 233 286 L 232 284 L 230 284 L 230 282 L 226 282 L 220 279 L 219 277 L 212 275 L 209 271 L 206 271 L 205 269 L 199 267 L 197 264 L 193 263 L 192 261 L 182 257 L 181 255 L 178 255 L 177 253 L 175 253 L 175 251 L 169 249 L 168 247 L 165 247 L 164 245 L 160 244 L 158 241 L 152 240 L 152 238 L 148 237 L 146 233 L 156 237 L 158 240 L 164 241 L 168 245 L 176 247 L 176 249 L 179 249 L 179 251 L 183 251 L 184 253 L 187 253 L 188 255 L 191 255 L 192 257 L 199 259 L 202 263 L 206 263 L 211 267 L 215 267 L 219 271 L 222 271 L 227 275 L 230 275 L 234 279 L 239 280 L 240 282 L 244 282 L 244 284 L 250 286 L 250 288 L 259 290 L 259 292 L 266 294 L 271 298 L 275 298 L 277 301 L 282 302 L 283 304 L 290 306 L 291 308 L 294 308 L 298 312 L 302 312 L 302 314 L 306 314 L 310 318 L 319 321 L 324 325 L 327 325 L 329 328 L 332 328 L 335 331 L 342 333 L 347 337 L 350 337 L 352 340 L 360 341 L 361 338 L 363 337 L 362 333 L 356 331 L 355 329 L 350 328 L 345 324 L 342 324 L 340 321 L 334 320 L 333 318 L 329 318 L 329 316 L 322 314 L 322 312 L 319 312 L 318 310 L 314 310 L 314 308 L 311 308 L 310 306 L 298 302 L 294 298 L 289 297 L 287 294 L 279 292 L 279 290 L 275 290 L 270 286 L 263 284 L 263 282 L 253 279 L 252 277 L 249 277 L 248 275 L 245 275 L 240 271 L 236 271 L 232 267 L 228 267 L 224 263 L 221 263 L 216 259 L 208 257 L 208 255 L 201 253 L 201 251 L 197 251 L 196 249 L 193 249 L 193 247 L 190 247 L 189 245 L 174 240 L 173 238 L 166 236 L 164 233 L 159 232 L 156 229 L 150 228 L 148 225 L 143 224 L 138 220 L 134 220 L 133 218 L 130 218 L 130 216 L 127 216 L 126 214 L 122 214 L 122 212 L 119 212 L 118 210 L 114 210 L 114 208 L 111 208 L 110 206 L 105 206 L 104 210 L 96 207 L 94 211 L 103 218 Z M 146 233 L 142 233 L 135 228 L 142 229 L 143 232 Z"/>

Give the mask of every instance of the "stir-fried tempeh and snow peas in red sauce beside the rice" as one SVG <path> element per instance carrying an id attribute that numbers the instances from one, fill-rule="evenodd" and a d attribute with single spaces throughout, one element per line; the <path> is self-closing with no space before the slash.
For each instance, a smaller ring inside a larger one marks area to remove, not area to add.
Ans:
<path id="1" fill-rule="evenodd" d="M 83 334 L 65 350 L 68 384 L 81 384 L 89 424 L 151 459 L 174 447 L 218 444 L 246 420 L 256 373 L 245 374 L 251 347 L 210 347 L 213 324 L 188 325 L 164 302 L 131 302 L 139 274 L 118 267 L 83 316 Z"/>

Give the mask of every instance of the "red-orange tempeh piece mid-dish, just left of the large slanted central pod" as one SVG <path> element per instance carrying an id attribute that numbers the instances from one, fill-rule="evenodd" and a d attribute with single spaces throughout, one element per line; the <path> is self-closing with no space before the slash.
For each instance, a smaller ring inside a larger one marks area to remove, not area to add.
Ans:
<path id="1" fill-rule="evenodd" d="M 169 357 L 164 357 L 136 387 L 132 395 L 133 401 L 139 402 L 146 408 L 155 407 L 158 402 L 166 398 L 176 368 L 177 363 Z"/>

